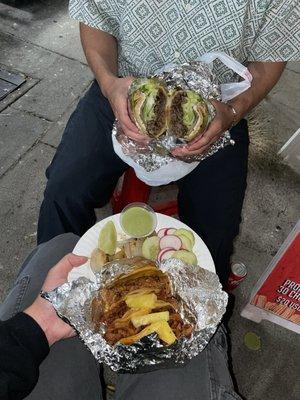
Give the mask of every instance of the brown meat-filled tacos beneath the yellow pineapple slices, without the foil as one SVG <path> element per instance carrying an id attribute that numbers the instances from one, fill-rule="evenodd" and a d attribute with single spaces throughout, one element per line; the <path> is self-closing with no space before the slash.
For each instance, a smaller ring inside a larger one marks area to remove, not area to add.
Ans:
<path id="1" fill-rule="evenodd" d="M 92 300 L 91 318 L 95 330 L 99 330 L 104 324 L 104 338 L 111 345 L 139 333 L 142 328 L 136 328 L 130 318 L 126 318 L 130 310 L 125 302 L 125 296 L 151 290 L 157 296 L 155 310 L 152 311 L 169 311 L 168 323 L 177 339 L 190 336 L 192 326 L 185 323 L 178 312 L 180 300 L 172 295 L 167 274 L 159 270 L 155 263 L 140 257 L 128 262 L 133 265 L 132 271 L 115 278 Z"/>

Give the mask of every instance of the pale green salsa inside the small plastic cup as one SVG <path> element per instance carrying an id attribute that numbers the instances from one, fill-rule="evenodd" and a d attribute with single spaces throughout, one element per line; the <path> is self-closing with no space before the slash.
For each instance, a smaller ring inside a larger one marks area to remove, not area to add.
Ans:
<path id="1" fill-rule="evenodd" d="M 142 237 L 153 232 L 154 219 L 152 214 L 142 207 L 131 207 L 121 215 L 124 231 L 131 237 Z"/>

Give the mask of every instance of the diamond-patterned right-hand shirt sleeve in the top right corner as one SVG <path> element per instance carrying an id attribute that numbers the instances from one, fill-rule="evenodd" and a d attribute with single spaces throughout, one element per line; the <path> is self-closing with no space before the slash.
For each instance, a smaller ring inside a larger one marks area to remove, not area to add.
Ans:
<path id="1" fill-rule="evenodd" d="M 300 60 L 300 2 L 272 0 L 260 22 L 248 61 Z"/>

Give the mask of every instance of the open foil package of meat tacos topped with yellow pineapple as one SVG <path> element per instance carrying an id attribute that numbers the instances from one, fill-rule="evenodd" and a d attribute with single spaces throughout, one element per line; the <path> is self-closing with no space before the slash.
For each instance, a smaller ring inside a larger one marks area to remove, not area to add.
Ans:
<path id="1" fill-rule="evenodd" d="M 205 348 L 226 309 L 217 275 L 178 259 L 117 260 L 96 277 L 44 297 L 100 363 L 121 373 L 184 364 Z"/>

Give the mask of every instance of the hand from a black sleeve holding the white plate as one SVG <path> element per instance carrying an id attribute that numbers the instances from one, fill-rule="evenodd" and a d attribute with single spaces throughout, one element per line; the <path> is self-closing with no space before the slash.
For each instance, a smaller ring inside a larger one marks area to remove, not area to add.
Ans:
<path id="1" fill-rule="evenodd" d="M 67 281 L 67 277 L 71 269 L 84 264 L 86 257 L 76 256 L 75 254 L 67 254 L 53 268 L 50 269 L 42 287 L 43 291 L 49 292 L 57 286 Z M 25 311 L 31 316 L 43 329 L 49 346 L 60 339 L 66 339 L 75 335 L 74 329 L 59 318 L 52 304 L 38 296 L 36 300 Z"/>

